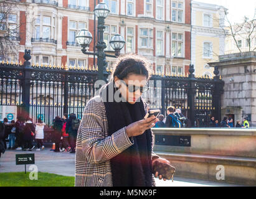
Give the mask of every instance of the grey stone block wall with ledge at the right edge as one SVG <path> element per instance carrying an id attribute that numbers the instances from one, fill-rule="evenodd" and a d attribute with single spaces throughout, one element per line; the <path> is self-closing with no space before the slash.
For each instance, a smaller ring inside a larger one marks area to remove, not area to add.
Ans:
<path id="1" fill-rule="evenodd" d="M 235 121 L 249 116 L 252 127 L 256 127 L 256 52 L 220 55 L 218 66 L 224 80 L 224 94 L 220 96 L 222 118 L 234 114 Z"/>

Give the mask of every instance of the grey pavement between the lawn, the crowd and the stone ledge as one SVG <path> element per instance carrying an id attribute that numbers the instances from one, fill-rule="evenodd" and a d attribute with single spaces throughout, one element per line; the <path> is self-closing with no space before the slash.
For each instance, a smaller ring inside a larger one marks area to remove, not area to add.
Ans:
<path id="1" fill-rule="evenodd" d="M 37 151 L 36 147 L 32 151 L 23 150 L 6 150 L 0 158 L 1 172 L 24 172 L 24 165 L 16 165 L 16 154 L 35 154 L 35 164 L 39 172 L 48 172 L 51 174 L 59 174 L 66 176 L 75 175 L 75 154 L 69 152 L 53 152 L 50 148 L 45 147 L 44 150 Z M 27 165 L 27 172 L 29 172 Z M 207 180 L 196 180 L 189 178 L 175 177 L 174 182 L 171 180 L 159 180 L 155 178 L 158 187 L 238 187 L 240 185 L 211 182 Z"/>

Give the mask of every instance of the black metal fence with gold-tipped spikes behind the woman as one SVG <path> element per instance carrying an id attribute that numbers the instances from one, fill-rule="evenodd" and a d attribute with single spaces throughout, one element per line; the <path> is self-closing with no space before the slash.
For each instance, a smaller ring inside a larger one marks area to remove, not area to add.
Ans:
<path id="1" fill-rule="evenodd" d="M 26 62 L 0 63 L 0 106 L 25 109 L 34 121 L 42 118 L 51 126 L 55 116 L 75 113 L 82 118 L 87 101 L 95 95 L 97 68 L 64 67 L 63 65 L 31 65 L 30 51 L 25 51 Z M 207 126 L 209 116 L 220 119 L 220 94 L 224 83 L 217 67 L 214 78 L 196 78 L 194 68 L 189 76 L 151 75 L 149 90 L 143 93 L 151 108 L 161 109 L 166 115 L 170 105 L 180 108 L 192 126 Z M 110 72 L 109 72 L 110 73 Z"/>

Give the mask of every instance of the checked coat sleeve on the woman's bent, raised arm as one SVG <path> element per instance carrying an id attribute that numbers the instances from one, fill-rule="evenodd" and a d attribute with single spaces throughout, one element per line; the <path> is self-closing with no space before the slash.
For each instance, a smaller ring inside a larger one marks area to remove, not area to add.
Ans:
<path id="1" fill-rule="evenodd" d="M 110 160 L 133 145 L 133 139 L 126 134 L 126 127 L 114 132 L 111 136 L 105 136 L 102 109 L 102 106 L 93 99 L 88 101 L 78 129 L 78 142 L 80 139 L 83 155 L 91 164 Z M 77 147 L 80 147 L 79 144 Z"/>

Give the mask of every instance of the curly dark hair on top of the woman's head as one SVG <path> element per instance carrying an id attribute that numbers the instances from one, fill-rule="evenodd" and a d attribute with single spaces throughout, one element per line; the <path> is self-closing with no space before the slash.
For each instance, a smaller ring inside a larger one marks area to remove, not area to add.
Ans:
<path id="1" fill-rule="evenodd" d="M 128 75 L 145 75 L 147 80 L 150 78 L 151 69 L 150 64 L 145 57 L 135 54 L 126 54 L 120 56 L 116 60 L 114 70 L 111 76 L 111 81 L 117 76 L 120 80 L 123 80 Z"/>

